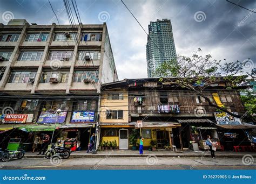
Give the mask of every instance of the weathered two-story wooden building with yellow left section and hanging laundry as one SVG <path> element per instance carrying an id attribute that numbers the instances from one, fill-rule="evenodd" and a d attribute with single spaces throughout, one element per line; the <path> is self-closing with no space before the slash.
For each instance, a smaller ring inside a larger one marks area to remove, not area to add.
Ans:
<path id="1" fill-rule="evenodd" d="M 236 144 L 248 143 L 246 132 L 250 132 L 255 125 L 243 123 L 242 118 L 219 111 L 210 106 L 205 98 L 173 84 L 174 80 L 125 79 L 103 84 L 101 141 L 116 140 L 120 149 L 127 149 L 136 146 L 132 139 L 134 136 L 137 139 L 141 132 L 145 148 L 176 146 L 181 149 L 204 149 L 207 148 L 207 135 L 219 143 L 219 149 L 233 150 L 232 146 Z M 225 106 L 229 111 L 242 115 L 245 110 L 239 90 L 232 87 L 231 82 L 223 80 L 211 84 L 203 93 L 218 106 Z M 141 123 L 143 126 L 139 131 Z M 135 135 L 134 129 L 137 130 Z M 237 137 L 232 139 L 234 135 Z M 231 141 L 232 144 L 227 144 Z"/>

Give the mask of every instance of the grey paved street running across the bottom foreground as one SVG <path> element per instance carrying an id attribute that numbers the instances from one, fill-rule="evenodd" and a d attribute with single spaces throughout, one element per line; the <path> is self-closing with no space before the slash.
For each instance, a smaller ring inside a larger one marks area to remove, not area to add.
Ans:
<path id="1" fill-rule="evenodd" d="M 256 169 L 241 158 L 25 158 L 0 163 L 1 169 Z"/>

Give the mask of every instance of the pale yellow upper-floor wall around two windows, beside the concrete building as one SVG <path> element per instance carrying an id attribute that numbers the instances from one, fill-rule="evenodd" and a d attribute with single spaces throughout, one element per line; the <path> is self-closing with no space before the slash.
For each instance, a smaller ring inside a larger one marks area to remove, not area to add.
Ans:
<path id="1" fill-rule="evenodd" d="M 121 93 L 122 89 L 118 89 Z M 115 93 L 115 91 L 107 91 Z M 124 110 L 123 119 L 106 119 L 106 110 Z M 100 100 L 100 123 L 128 123 L 128 93 L 123 90 L 123 100 L 107 100 L 107 94 L 104 94 Z"/>

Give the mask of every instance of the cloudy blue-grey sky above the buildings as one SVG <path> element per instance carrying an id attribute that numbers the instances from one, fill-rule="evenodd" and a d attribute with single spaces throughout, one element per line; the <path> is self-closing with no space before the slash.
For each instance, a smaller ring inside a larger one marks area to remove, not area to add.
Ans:
<path id="1" fill-rule="evenodd" d="M 256 11 L 254 0 L 230 0 Z M 69 24 L 61 0 L 50 0 L 60 12 L 60 24 Z M 119 80 L 147 77 L 147 36 L 120 0 L 76 0 L 83 24 L 102 24 L 105 20 L 116 61 Z M 171 19 L 176 51 L 189 56 L 200 47 L 213 59 L 244 61 L 247 69 L 256 67 L 256 13 L 225 0 L 124 0 L 144 29 L 150 21 Z M 48 24 L 54 15 L 47 0 L 0 0 L 0 22 L 7 13 L 29 23 Z M 53 19 L 57 24 L 57 20 Z"/>

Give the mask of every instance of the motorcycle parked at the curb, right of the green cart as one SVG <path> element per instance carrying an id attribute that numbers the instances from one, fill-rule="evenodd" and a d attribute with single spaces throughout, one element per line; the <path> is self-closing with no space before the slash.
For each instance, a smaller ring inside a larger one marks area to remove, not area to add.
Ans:
<path id="1" fill-rule="evenodd" d="M 56 146 L 56 144 L 53 143 L 51 148 L 46 151 L 45 158 L 50 159 L 54 155 L 59 155 L 63 159 L 68 159 L 70 157 L 70 151 L 65 147 Z"/>

